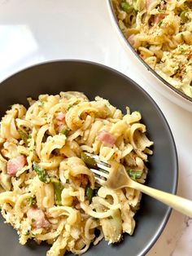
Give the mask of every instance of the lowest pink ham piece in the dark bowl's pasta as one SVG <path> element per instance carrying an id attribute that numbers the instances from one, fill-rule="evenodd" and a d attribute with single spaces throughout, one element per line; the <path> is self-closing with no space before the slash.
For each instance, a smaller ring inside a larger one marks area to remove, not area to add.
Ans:
<path id="1" fill-rule="evenodd" d="M 37 208 L 30 208 L 27 212 L 28 219 L 33 227 L 41 228 L 48 227 L 49 222 L 46 220 L 44 212 Z"/>

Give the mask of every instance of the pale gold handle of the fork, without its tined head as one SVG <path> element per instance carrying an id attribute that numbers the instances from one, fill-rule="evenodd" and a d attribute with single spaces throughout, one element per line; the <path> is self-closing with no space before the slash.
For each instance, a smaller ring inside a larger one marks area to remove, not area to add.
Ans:
<path id="1" fill-rule="evenodd" d="M 175 196 L 168 192 L 163 192 L 155 188 L 150 188 L 141 183 L 129 182 L 129 187 L 135 188 L 148 196 L 154 197 L 165 205 L 171 206 L 172 209 L 181 212 L 189 217 L 192 217 L 192 201 L 181 196 Z"/>

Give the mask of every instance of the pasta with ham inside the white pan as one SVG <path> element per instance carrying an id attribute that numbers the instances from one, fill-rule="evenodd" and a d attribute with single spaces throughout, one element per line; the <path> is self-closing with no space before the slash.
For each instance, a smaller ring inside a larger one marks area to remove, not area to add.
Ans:
<path id="1" fill-rule="evenodd" d="M 120 29 L 138 55 L 192 97 L 192 1 L 112 0 Z"/>

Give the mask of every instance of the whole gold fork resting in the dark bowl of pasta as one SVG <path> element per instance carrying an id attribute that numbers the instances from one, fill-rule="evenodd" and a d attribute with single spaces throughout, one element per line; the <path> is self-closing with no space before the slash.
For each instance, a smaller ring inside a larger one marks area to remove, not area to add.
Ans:
<path id="1" fill-rule="evenodd" d="M 98 156 L 85 152 L 88 157 L 91 157 L 96 162 L 100 170 L 90 168 L 94 173 L 97 183 L 111 189 L 120 189 L 124 187 L 134 188 L 148 196 L 163 202 L 165 205 L 171 206 L 172 209 L 181 212 L 189 217 L 192 217 L 192 201 L 181 196 L 175 196 L 168 192 L 163 192 L 155 188 L 150 188 L 141 183 L 137 183 L 129 177 L 124 166 L 116 161 L 104 162 Z"/>

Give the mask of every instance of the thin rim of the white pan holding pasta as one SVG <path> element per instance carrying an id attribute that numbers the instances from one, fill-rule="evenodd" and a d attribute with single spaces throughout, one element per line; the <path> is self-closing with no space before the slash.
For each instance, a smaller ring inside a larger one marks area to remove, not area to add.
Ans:
<path id="1" fill-rule="evenodd" d="M 153 76 L 157 77 L 159 79 L 160 82 L 163 82 L 165 86 L 168 86 L 169 89 L 173 90 L 174 92 L 177 93 L 177 95 L 181 96 L 181 98 L 187 100 L 188 102 L 192 102 L 192 97 L 185 95 L 185 93 L 183 93 L 181 90 L 178 90 L 177 88 L 175 88 L 174 86 L 172 86 L 169 82 L 167 82 L 163 77 L 161 77 L 158 73 L 155 72 L 155 70 L 153 68 L 150 67 L 150 65 L 146 64 L 146 62 L 144 60 L 142 60 L 142 58 L 137 54 L 137 51 L 135 51 L 135 49 L 133 48 L 133 46 L 130 44 L 130 42 L 124 37 L 124 33 L 122 32 L 122 30 L 120 29 L 120 26 L 118 24 L 118 20 L 116 18 L 116 13 L 114 11 L 114 7 L 112 4 L 112 0 L 107 0 L 108 3 L 108 7 L 110 9 L 111 12 L 111 19 L 114 21 L 114 23 L 116 24 L 116 29 L 118 29 L 118 32 L 120 33 L 121 38 L 123 38 L 125 44 L 127 46 L 129 46 L 129 49 L 133 52 L 133 54 L 137 57 L 137 59 L 145 66 L 145 68 L 147 69 L 147 71 L 150 71 L 152 73 Z"/>

